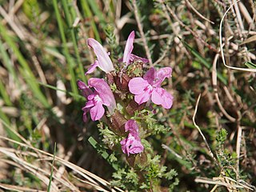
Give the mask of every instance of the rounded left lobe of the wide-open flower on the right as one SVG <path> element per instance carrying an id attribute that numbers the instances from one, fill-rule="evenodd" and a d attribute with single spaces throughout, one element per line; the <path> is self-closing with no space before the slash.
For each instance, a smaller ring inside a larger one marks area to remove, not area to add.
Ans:
<path id="1" fill-rule="evenodd" d="M 144 89 L 149 86 L 149 83 L 143 78 L 133 78 L 130 80 L 128 86 L 130 93 L 142 94 L 144 92 Z"/>

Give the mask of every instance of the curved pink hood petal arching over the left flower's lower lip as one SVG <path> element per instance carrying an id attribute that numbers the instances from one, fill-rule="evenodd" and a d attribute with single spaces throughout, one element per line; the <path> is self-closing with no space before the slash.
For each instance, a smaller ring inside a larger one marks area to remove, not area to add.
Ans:
<path id="1" fill-rule="evenodd" d="M 103 105 L 108 106 L 110 113 L 112 113 L 116 108 L 116 102 L 110 86 L 102 78 L 90 78 L 88 85 L 94 87 L 102 99 Z"/>

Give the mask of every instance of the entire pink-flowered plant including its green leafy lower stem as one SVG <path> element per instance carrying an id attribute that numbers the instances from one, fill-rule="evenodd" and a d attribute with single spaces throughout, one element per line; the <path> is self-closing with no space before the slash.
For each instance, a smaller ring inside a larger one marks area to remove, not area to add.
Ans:
<path id="1" fill-rule="evenodd" d="M 87 40 L 97 60 L 86 75 L 98 67 L 106 77 L 90 78 L 87 83 L 78 81 L 78 88 L 86 98 L 82 107 L 83 121 L 88 121 L 89 114 L 92 121 L 99 120 L 102 142 L 113 154 L 126 157 L 126 166 L 119 167 L 113 175 L 114 185 L 130 190 L 158 191 L 161 178 L 171 180 L 176 172 L 167 172 L 166 166 L 160 165 L 160 156 L 154 153 L 146 138 L 169 130 L 154 118 L 154 106 L 169 110 L 173 104 L 173 96 L 162 88 L 162 82 L 171 77 L 172 69 L 146 69 L 148 60 L 132 54 L 134 37 L 132 31 L 123 57 L 114 64 L 99 42 L 94 38 Z M 113 159 L 118 162 L 125 158 Z M 170 185 L 177 182 L 176 179 Z"/>

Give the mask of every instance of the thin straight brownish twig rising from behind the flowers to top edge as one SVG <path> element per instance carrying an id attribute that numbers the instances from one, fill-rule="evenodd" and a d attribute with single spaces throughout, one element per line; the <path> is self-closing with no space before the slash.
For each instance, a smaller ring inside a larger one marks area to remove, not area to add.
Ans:
<path id="1" fill-rule="evenodd" d="M 137 24 L 138 24 L 138 30 L 139 30 L 139 33 L 141 34 L 143 45 L 144 45 L 144 48 L 145 48 L 145 51 L 146 51 L 146 57 L 149 59 L 150 66 L 153 66 L 152 58 L 151 58 L 151 55 L 150 55 L 150 49 L 149 49 L 149 46 L 147 46 L 146 37 L 145 37 L 145 34 L 143 32 L 142 23 L 139 20 L 138 6 L 137 6 L 137 3 L 136 3 L 136 0 L 133 0 L 132 3 L 133 3 L 133 6 L 134 6 L 134 16 L 135 16 L 135 19 L 136 19 Z"/>

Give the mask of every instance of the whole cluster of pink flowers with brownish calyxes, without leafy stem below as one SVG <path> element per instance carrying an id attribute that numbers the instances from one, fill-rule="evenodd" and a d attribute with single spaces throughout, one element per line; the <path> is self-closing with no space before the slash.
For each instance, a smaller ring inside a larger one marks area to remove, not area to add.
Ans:
<path id="1" fill-rule="evenodd" d="M 89 111 L 93 121 L 101 119 L 105 114 L 107 126 L 119 136 L 122 152 L 128 156 L 140 154 L 144 150 L 143 135 L 140 134 L 140 130 L 143 130 L 142 123 L 131 119 L 134 112 L 149 106 L 150 101 L 165 109 L 170 109 L 173 104 L 173 96 L 161 87 L 165 78 L 170 78 L 171 68 L 155 70 L 152 67 L 143 75 L 148 60 L 132 54 L 134 38 L 132 31 L 127 39 L 123 58 L 118 60 L 122 67 L 114 67 L 102 45 L 94 38 L 89 38 L 87 44 L 94 50 L 97 60 L 91 64 L 86 75 L 93 73 L 98 67 L 106 73 L 106 80 L 90 78 L 88 86 L 85 82 L 78 81 L 78 88 L 86 98 L 86 105 L 82 108 L 83 120 L 87 121 Z"/>

